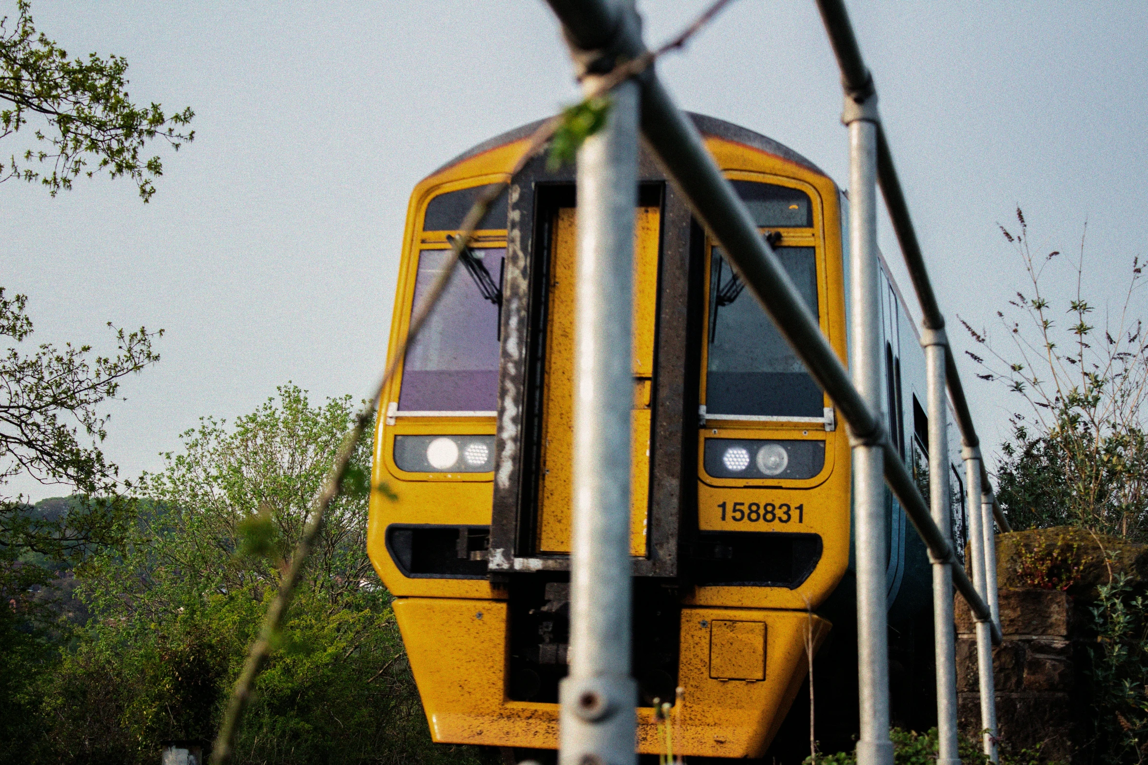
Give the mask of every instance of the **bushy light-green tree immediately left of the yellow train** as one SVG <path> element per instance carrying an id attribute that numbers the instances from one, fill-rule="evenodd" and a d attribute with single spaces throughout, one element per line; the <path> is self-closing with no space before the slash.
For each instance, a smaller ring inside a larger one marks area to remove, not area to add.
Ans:
<path id="1" fill-rule="evenodd" d="M 312 405 L 288 384 L 233 423 L 205 417 L 184 434 L 137 485 L 139 522 L 122 549 L 84 572 L 94 617 L 38 688 L 26 759 L 153 763 L 163 739 L 214 737 L 352 416 L 350 397 Z M 354 463 L 369 462 L 364 444 Z M 332 505 L 239 762 L 476 765 L 470 748 L 430 746 L 390 595 L 366 556 L 366 516 L 363 492 Z"/>

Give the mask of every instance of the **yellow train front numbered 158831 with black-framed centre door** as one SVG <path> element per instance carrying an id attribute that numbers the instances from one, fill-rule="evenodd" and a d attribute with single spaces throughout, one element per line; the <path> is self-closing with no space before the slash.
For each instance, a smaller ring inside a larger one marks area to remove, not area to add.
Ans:
<path id="1" fill-rule="evenodd" d="M 692 119 L 845 359 L 838 188 L 762 135 Z M 533 128 L 475 147 L 414 188 L 390 353 L 476 194 L 507 178 Z M 831 630 L 816 611 L 850 565 L 847 436 L 646 155 L 639 177 L 637 748 L 664 751 L 653 698 L 681 686 L 675 754 L 757 757 L 806 677 L 805 635 L 820 645 Z M 372 498 L 367 544 L 439 742 L 558 743 L 575 221 L 573 169 L 530 161 L 480 225 L 382 399 L 373 478 L 398 499 Z"/>

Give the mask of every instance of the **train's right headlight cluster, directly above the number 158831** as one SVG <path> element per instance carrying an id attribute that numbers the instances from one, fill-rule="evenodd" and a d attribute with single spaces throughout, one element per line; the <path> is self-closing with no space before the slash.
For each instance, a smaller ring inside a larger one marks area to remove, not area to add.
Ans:
<path id="1" fill-rule="evenodd" d="M 706 475 L 714 478 L 813 478 L 825 467 L 825 442 L 820 438 L 706 438 Z"/>

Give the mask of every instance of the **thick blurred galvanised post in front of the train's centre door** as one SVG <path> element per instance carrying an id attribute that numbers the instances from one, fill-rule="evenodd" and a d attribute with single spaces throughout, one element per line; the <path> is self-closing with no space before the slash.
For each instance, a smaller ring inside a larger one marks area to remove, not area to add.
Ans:
<path id="1" fill-rule="evenodd" d="M 639 86 L 623 83 L 610 97 L 606 125 L 577 154 L 571 663 L 559 693 L 560 765 L 637 762 L 629 528 Z"/>

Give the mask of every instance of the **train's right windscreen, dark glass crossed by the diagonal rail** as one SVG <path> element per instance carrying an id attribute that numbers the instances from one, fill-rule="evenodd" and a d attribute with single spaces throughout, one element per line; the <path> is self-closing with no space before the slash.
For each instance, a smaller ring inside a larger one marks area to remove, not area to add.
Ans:
<path id="1" fill-rule="evenodd" d="M 759 184 L 760 185 L 760 184 Z M 817 315 L 817 260 L 812 247 L 774 250 Z M 821 417 L 821 388 L 758 302 L 713 248 L 706 413 Z"/>

